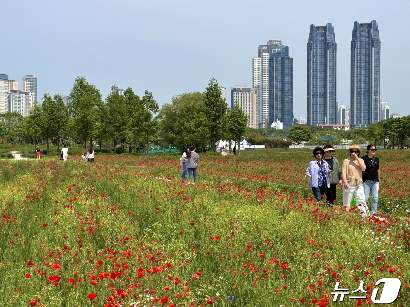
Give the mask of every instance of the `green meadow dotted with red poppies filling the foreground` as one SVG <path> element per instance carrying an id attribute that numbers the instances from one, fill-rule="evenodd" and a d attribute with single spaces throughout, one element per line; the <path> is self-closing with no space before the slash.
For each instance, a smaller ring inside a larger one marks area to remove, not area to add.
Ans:
<path id="1" fill-rule="evenodd" d="M 381 278 L 408 306 L 410 152 L 377 153 L 385 219 L 315 202 L 311 151 L 200 154 L 197 183 L 179 155 L 1 160 L 0 306 L 377 306 Z"/>

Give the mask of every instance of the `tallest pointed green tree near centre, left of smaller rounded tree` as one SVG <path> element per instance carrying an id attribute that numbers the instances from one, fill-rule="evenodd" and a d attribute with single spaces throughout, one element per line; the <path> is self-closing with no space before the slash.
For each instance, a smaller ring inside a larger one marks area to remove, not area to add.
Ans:
<path id="1" fill-rule="evenodd" d="M 216 141 L 221 139 L 225 127 L 223 126 L 223 117 L 227 111 L 225 99 L 221 97 L 221 88 L 215 78 L 205 88 L 205 116 L 209 122 L 209 132 L 211 138 L 211 147 L 216 151 Z"/>

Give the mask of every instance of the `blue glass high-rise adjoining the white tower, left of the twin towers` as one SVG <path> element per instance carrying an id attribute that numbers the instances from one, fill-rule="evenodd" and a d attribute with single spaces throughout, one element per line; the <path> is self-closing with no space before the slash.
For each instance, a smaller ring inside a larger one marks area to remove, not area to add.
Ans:
<path id="1" fill-rule="evenodd" d="M 279 120 L 289 130 L 293 125 L 293 59 L 281 41 L 268 41 L 268 52 L 268 127 Z"/>

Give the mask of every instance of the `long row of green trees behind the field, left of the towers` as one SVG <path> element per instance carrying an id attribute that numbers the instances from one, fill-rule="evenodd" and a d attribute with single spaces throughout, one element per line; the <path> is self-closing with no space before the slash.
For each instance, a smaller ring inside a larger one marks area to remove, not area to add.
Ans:
<path id="1" fill-rule="evenodd" d="M 15 144 L 24 140 L 34 147 L 44 141 L 56 144 L 68 138 L 87 148 L 87 144 L 103 142 L 117 151 L 117 146 L 134 151 L 153 138 L 162 144 L 178 147 L 194 145 L 198 149 L 212 147 L 220 139 L 239 141 L 245 134 L 248 117 L 238 106 L 228 110 L 221 97 L 218 83 L 212 78 L 204 93 L 190 92 L 175 96 L 161 109 L 152 93 L 145 91 L 140 98 L 128 87 L 123 95 L 111 87 L 105 101 L 100 91 L 84 77 L 75 79 L 70 93 L 71 104 L 64 105 L 59 95 L 43 95 L 30 116 L 18 113 L 0 115 L 0 140 Z"/>

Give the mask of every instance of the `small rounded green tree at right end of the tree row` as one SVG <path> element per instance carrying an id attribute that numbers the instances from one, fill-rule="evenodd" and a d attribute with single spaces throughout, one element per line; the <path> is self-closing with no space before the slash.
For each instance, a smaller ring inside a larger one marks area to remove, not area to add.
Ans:
<path id="1" fill-rule="evenodd" d="M 230 140 L 235 140 L 238 144 L 238 155 L 240 154 L 240 142 L 244 138 L 246 126 L 248 125 L 248 116 L 244 111 L 235 104 L 235 106 L 226 113 L 227 132 Z"/>

